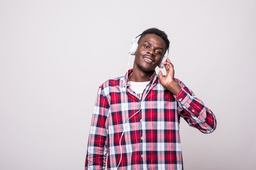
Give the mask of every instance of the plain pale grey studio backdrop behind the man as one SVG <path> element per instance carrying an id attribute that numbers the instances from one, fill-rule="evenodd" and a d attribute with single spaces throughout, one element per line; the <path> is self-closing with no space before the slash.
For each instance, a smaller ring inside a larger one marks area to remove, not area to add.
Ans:
<path id="1" fill-rule="evenodd" d="M 181 119 L 184 169 L 255 170 L 255 7 L 0 0 L 0 169 L 83 170 L 98 87 L 125 75 L 132 39 L 157 27 L 171 42 L 175 77 L 217 118 L 211 134 Z"/>

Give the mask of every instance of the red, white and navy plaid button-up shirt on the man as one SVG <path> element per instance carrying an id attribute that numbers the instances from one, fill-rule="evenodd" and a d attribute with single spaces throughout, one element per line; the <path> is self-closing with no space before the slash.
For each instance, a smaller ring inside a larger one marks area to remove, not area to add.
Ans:
<path id="1" fill-rule="evenodd" d="M 108 170 L 117 169 L 120 137 L 126 121 L 140 107 L 124 130 L 118 169 L 183 170 L 180 117 L 203 133 L 215 130 L 216 118 L 189 88 L 179 79 L 175 81 L 182 87 L 177 95 L 164 88 L 154 73 L 142 94 L 141 99 L 148 93 L 144 102 L 129 88 L 129 80 L 126 89 L 126 76 L 103 83 L 92 115 L 85 170 L 105 169 L 106 162 Z"/>

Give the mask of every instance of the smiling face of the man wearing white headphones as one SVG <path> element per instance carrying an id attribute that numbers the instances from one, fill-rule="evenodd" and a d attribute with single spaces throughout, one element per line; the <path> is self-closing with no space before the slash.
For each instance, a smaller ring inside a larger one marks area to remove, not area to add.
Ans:
<path id="1" fill-rule="evenodd" d="M 155 71 L 165 51 L 165 43 L 162 38 L 155 34 L 146 34 L 138 43 L 134 67 L 143 72 Z"/>

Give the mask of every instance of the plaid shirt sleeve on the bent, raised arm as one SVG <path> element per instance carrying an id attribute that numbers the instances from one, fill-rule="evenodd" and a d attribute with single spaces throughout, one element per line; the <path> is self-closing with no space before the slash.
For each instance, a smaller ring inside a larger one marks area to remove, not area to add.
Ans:
<path id="1" fill-rule="evenodd" d="M 216 129 L 216 117 L 213 112 L 184 83 L 176 80 L 181 86 L 180 92 L 173 95 L 178 103 L 179 115 L 186 120 L 189 126 L 203 133 L 213 132 Z"/>

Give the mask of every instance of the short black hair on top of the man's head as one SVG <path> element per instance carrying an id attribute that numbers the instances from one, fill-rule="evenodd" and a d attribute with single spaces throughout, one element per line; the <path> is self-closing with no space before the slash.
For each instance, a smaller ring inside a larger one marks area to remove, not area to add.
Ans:
<path id="1" fill-rule="evenodd" d="M 170 46 L 170 41 L 168 40 L 168 36 L 167 36 L 167 34 L 164 31 L 161 31 L 161 30 L 159 30 L 157 28 L 146 29 L 145 31 L 143 31 L 141 33 L 141 36 L 140 36 L 140 38 L 138 40 L 138 43 L 141 40 L 141 38 L 145 37 L 147 34 L 155 34 L 155 35 L 161 37 L 164 40 L 164 42 L 165 42 L 165 47 L 166 47 L 166 51 L 167 51 L 167 49 Z"/>

